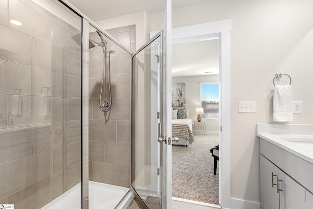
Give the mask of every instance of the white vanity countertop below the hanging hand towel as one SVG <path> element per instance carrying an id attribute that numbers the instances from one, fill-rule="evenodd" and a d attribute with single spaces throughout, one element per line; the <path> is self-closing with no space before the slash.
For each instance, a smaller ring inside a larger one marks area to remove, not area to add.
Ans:
<path id="1" fill-rule="evenodd" d="M 313 163 L 313 125 L 258 123 L 256 135 Z"/>

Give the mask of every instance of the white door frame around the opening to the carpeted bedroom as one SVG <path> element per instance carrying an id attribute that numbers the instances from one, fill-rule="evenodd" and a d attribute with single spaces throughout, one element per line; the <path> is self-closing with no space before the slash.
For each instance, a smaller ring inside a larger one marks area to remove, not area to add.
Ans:
<path id="1" fill-rule="evenodd" d="M 217 21 L 172 28 L 174 43 L 192 42 L 206 39 L 213 34 L 220 41 L 220 204 L 230 209 L 230 31 L 231 21 Z"/>

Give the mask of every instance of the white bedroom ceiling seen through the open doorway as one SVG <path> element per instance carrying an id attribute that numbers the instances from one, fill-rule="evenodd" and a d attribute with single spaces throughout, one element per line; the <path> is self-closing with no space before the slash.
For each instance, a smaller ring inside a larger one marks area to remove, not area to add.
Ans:
<path id="1" fill-rule="evenodd" d="M 210 74 L 219 74 L 218 39 L 172 46 L 173 77 Z"/>

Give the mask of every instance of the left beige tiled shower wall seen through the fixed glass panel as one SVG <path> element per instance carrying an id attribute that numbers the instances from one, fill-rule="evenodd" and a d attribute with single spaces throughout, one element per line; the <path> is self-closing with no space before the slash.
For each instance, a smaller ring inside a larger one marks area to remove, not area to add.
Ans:
<path id="1" fill-rule="evenodd" d="M 0 1 L 0 204 L 40 209 L 81 181 L 79 33 L 33 1 Z M 17 88 L 22 113 L 11 124 Z"/>

